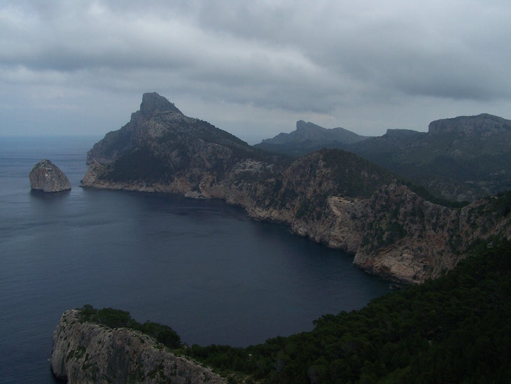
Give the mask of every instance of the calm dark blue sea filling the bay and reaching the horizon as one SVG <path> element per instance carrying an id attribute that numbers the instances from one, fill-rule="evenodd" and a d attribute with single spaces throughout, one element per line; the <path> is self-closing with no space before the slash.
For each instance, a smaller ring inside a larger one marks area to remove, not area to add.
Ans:
<path id="1" fill-rule="evenodd" d="M 1 383 L 54 383 L 52 332 L 83 304 L 169 325 L 190 345 L 249 346 L 388 292 L 348 255 L 222 201 L 81 188 L 98 140 L 0 138 Z M 43 158 L 71 191 L 31 192 Z"/>

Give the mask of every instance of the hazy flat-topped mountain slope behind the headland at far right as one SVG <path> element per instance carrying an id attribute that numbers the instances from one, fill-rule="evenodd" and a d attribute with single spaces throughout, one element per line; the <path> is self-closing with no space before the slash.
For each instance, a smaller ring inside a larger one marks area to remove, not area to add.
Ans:
<path id="1" fill-rule="evenodd" d="M 451 200 L 511 188 L 511 120 L 482 114 L 436 120 L 428 133 L 388 130 L 349 150 Z"/>

